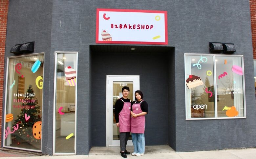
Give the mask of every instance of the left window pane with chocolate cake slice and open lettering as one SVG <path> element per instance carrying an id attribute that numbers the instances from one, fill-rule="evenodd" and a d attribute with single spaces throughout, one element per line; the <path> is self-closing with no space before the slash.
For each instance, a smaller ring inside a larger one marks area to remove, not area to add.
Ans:
<path id="1" fill-rule="evenodd" d="M 186 56 L 187 118 L 215 117 L 212 72 L 213 56 Z"/>

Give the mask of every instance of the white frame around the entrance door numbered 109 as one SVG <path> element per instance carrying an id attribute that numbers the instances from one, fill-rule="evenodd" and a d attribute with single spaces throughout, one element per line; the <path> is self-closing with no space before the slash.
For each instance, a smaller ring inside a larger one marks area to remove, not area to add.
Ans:
<path id="1" fill-rule="evenodd" d="M 108 111 L 109 111 L 109 107 L 108 107 L 108 78 L 109 77 L 123 77 L 123 78 L 125 78 L 125 77 L 137 77 L 138 78 L 138 90 L 139 90 L 139 75 L 106 75 L 106 147 L 108 147 L 109 146 L 109 142 L 108 142 L 108 131 L 109 131 L 109 126 L 108 126 L 108 118 L 109 118 L 109 116 L 108 116 Z M 135 92 L 136 90 L 134 90 L 134 92 Z M 134 94 L 133 94 L 133 98 L 135 99 L 135 97 L 134 97 Z M 112 134 L 113 135 L 113 134 Z M 115 145 L 113 145 L 113 146 L 115 146 Z"/>

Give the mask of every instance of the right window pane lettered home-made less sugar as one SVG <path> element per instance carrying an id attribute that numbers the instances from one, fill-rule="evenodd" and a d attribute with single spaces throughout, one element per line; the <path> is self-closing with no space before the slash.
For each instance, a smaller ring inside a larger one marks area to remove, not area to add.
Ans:
<path id="1" fill-rule="evenodd" d="M 218 117 L 244 117 L 242 57 L 216 56 Z"/>

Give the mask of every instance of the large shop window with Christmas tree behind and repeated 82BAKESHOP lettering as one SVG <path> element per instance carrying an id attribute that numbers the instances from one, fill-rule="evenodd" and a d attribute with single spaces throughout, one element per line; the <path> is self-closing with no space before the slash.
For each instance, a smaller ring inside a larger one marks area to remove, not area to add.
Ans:
<path id="1" fill-rule="evenodd" d="M 8 58 L 4 147 L 41 151 L 44 55 Z"/>

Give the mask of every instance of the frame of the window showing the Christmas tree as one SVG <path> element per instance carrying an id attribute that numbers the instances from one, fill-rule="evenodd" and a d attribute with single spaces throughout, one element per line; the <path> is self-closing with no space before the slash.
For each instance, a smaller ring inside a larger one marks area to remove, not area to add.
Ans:
<path id="1" fill-rule="evenodd" d="M 6 126 L 6 106 L 7 106 L 7 89 L 8 89 L 8 77 L 9 77 L 9 60 L 12 58 L 21 58 L 21 57 L 27 57 L 27 56 L 37 56 L 37 55 L 44 55 L 44 64 L 45 64 L 45 53 L 35 53 L 35 54 L 29 54 L 29 55 L 20 55 L 20 56 L 10 56 L 7 57 L 7 67 L 6 67 L 6 77 L 5 77 L 5 105 L 4 105 L 4 129 L 2 130 L 2 134 L 3 136 L 5 136 L 5 126 Z M 43 76 L 44 76 L 44 70 L 43 70 Z M 42 88 L 43 90 L 43 94 L 42 94 L 42 123 L 43 123 L 43 105 L 44 105 L 44 88 Z M 42 124 L 42 129 L 43 129 L 43 124 Z M 41 149 L 40 150 L 34 150 L 34 149 L 26 149 L 26 148 L 19 148 L 19 147 L 12 147 L 12 146 L 6 146 L 5 145 L 5 139 L 3 139 L 3 147 L 5 148 L 11 148 L 11 149 L 16 149 L 16 150 L 25 150 L 25 151 L 34 151 L 34 152 L 42 152 L 42 140 L 43 140 L 43 133 L 42 133 L 42 137 L 41 137 Z"/>

